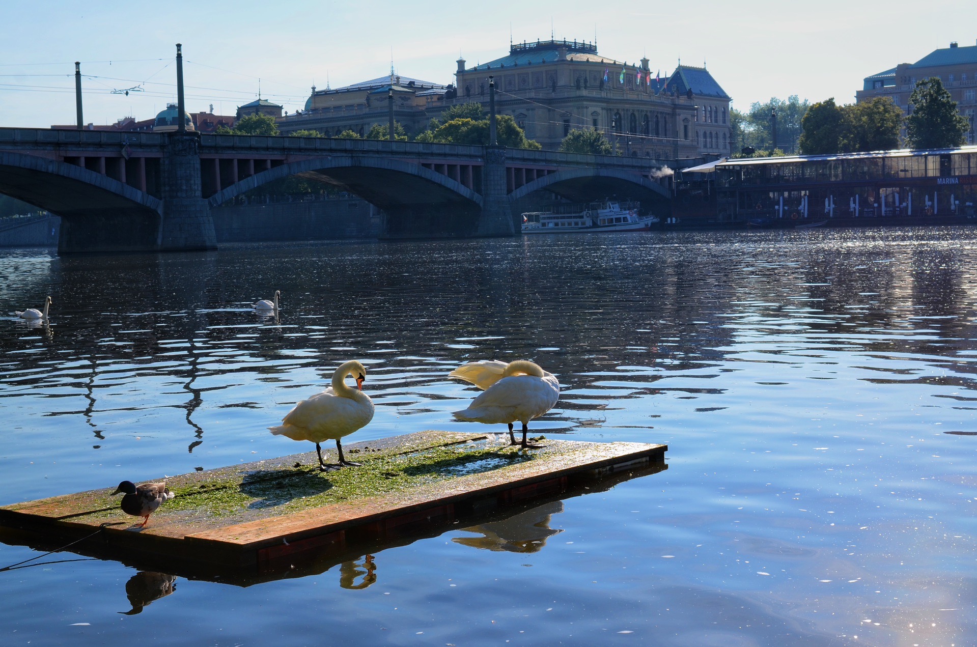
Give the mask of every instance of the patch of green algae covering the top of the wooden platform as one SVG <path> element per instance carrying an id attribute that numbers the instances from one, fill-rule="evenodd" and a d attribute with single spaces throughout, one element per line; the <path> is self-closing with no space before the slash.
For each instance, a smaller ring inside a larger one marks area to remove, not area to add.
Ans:
<path id="1" fill-rule="evenodd" d="M 516 447 L 464 450 L 438 447 L 422 452 L 361 457 L 362 465 L 321 472 L 318 465 L 260 470 L 243 479 L 174 488 L 175 498 L 157 514 L 201 511 L 215 516 L 242 508 L 287 513 L 364 496 L 402 492 L 448 478 L 486 472 L 534 458 Z"/>

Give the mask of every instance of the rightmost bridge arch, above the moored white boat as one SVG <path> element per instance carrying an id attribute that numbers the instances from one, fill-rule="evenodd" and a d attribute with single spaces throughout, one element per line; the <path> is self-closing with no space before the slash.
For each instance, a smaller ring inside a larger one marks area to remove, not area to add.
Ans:
<path id="1" fill-rule="evenodd" d="M 671 194 L 645 175 L 616 168 L 568 168 L 541 178 L 516 189 L 509 194 L 513 202 L 545 189 L 577 202 L 586 202 L 612 194 L 625 194 L 634 198 L 651 198 L 667 202 Z"/>

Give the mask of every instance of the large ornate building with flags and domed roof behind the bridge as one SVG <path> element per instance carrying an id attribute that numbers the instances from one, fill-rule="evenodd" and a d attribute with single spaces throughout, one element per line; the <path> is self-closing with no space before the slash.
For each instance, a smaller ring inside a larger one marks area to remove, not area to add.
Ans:
<path id="1" fill-rule="evenodd" d="M 384 76 L 335 90 L 313 93 L 301 112 L 278 121 L 283 133 L 319 130 L 361 136 L 389 119 L 393 91 L 395 118 L 416 135 L 446 108 L 480 102 L 488 110 L 489 78 L 495 105 L 526 136 L 556 150 L 572 129 L 596 128 L 619 154 L 661 160 L 729 154 L 730 97 L 705 67 L 679 65 L 665 77 L 642 59 L 626 64 L 601 56 L 582 41 L 548 40 L 513 44 L 508 56 L 466 66 L 457 61 L 455 83 L 440 85 Z"/>

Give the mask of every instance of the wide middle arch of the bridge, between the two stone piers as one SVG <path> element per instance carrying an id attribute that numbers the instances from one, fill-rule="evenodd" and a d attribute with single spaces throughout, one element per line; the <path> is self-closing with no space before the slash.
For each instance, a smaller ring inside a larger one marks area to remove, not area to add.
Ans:
<path id="1" fill-rule="evenodd" d="M 245 178 L 208 200 L 211 206 L 218 206 L 290 175 L 318 176 L 316 179 L 360 195 L 386 211 L 432 203 L 477 209 L 483 206 L 482 195 L 418 163 L 357 154 L 326 155 L 282 164 Z"/>

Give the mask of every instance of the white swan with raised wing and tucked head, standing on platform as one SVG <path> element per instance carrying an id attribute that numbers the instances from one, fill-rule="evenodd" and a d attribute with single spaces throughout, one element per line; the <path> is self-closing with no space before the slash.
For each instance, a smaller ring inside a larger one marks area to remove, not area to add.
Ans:
<path id="1" fill-rule="evenodd" d="M 526 360 L 509 364 L 493 360 L 472 362 L 455 368 L 448 375 L 486 390 L 472 401 L 468 409 L 454 411 L 454 417 L 487 424 L 505 422 L 509 425 L 509 440 L 513 445 L 517 443 L 512 433 L 512 423 L 520 420 L 523 423 L 523 442 L 520 445 L 539 447 L 528 443 L 526 434 L 530 420 L 553 409 L 560 399 L 560 382 L 552 373 Z"/>

